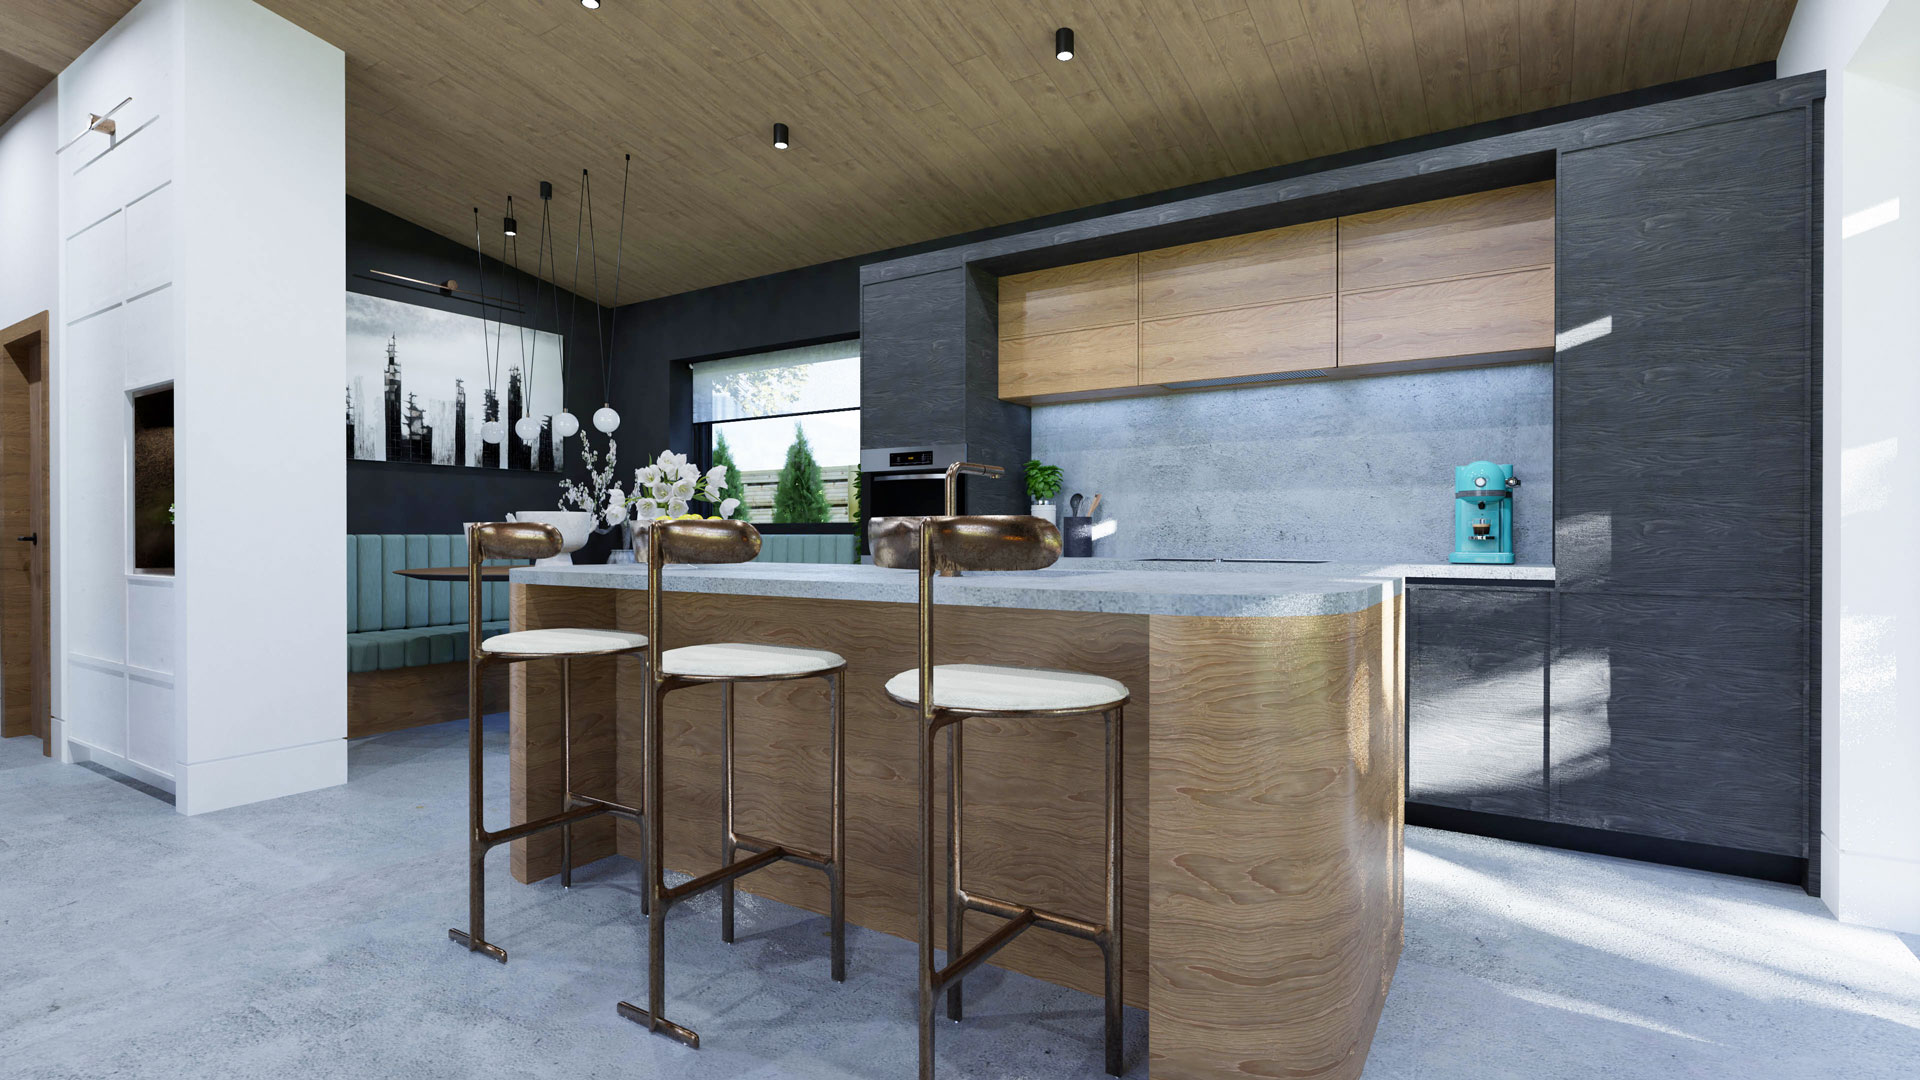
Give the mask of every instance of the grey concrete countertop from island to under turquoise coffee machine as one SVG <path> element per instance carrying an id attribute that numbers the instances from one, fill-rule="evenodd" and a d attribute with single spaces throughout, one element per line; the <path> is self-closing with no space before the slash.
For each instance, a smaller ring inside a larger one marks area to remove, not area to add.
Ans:
<path id="1" fill-rule="evenodd" d="M 1461 573 L 1469 571 L 1469 573 Z M 962 607 L 1125 615 L 1346 615 L 1398 596 L 1405 578 L 1551 580 L 1551 567 L 1373 563 L 1137 563 L 1062 559 L 1044 571 L 939 578 L 933 601 Z M 647 588 L 645 567 L 515 567 L 513 584 Z M 916 575 L 872 563 L 741 563 L 666 569 L 668 592 L 914 603 Z"/>

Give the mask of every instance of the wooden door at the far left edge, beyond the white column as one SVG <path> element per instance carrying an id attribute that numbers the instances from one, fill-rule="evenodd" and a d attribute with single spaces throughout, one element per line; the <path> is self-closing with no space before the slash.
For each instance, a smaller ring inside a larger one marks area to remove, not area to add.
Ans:
<path id="1" fill-rule="evenodd" d="M 0 736 L 54 753 L 48 659 L 46 311 L 0 331 Z"/>

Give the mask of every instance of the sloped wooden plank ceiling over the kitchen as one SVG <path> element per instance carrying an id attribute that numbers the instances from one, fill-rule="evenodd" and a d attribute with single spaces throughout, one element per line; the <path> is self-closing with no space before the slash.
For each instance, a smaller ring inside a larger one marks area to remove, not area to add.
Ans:
<path id="1" fill-rule="evenodd" d="M 44 21 L 125 8 L 0 2 Z M 349 194 L 468 244 L 478 204 L 492 252 L 513 192 L 530 263 L 538 183 L 551 179 L 566 265 L 580 169 L 593 169 L 607 300 L 630 152 L 622 304 L 1757 63 L 1778 54 L 1793 12 L 1793 0 L 263 4 L 348 54 Z M 1069 63 L 1052 56 L 1060 25 L 1077 38 Z M 772 148 L 774 121 L 791 125 L 791 150 Z"/>

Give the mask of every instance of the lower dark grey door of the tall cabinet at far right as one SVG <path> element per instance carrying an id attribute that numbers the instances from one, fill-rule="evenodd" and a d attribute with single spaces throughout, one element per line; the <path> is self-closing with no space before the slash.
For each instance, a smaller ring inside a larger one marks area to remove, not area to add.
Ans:
<path id="1" fill-rule="evenodd" d="M 1553 819 L 1807 855 L 1807 609 L 1561 592 Z"/>

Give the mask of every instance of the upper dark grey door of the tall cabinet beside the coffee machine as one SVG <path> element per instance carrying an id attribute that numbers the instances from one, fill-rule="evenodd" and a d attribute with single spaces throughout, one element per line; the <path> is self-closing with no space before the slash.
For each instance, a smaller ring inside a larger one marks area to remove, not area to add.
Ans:
<path id="1" fill-rule="evenodd" d="M 1563 154 L 1563 590 L 1799 596 L 1812 500 L 1807 110 Z"/>

